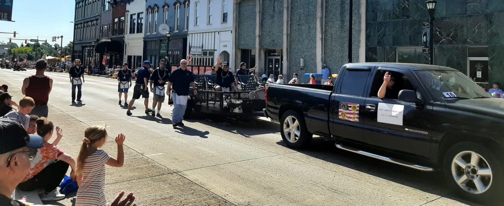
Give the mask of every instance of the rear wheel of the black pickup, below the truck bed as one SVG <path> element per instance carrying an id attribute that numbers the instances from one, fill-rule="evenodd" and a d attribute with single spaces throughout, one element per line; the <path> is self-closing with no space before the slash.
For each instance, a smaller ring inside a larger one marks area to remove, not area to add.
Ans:
<path id="1" fill-rule="evenodd" d="M 306 147 L 312 137 L 312 134 L 306 129 L 302 116 L 292 110 L 285 112 L 282 116 L 280 129 L 283 141 L 291 148 Z"/>

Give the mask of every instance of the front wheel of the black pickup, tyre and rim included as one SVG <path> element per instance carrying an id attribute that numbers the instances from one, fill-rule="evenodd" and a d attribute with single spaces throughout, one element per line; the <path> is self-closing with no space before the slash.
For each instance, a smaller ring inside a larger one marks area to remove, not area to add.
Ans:
<path id="1" fill-rule="evenodd" d="M 460 196 L 491 203 L 500 198 L 504 185 L 502 160 L 498 157 L 500 153 L 490 152 L 478 143 L 457 143 L 446 153 L 443 173 Z"/>

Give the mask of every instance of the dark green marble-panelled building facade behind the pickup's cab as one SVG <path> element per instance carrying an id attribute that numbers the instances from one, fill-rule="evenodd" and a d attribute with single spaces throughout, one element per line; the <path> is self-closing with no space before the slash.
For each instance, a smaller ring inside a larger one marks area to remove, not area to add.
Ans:
<path id="1" fill-rule="evenodd" d="M 367 0 L 367 62 L 429 63 L 428 54 L 422 53 L 422 24 L 429 21 L 424 2 Z M 434 64 L 458 69 L 480 84 L 504 83 L 502 3 L 437 1 Z"/>

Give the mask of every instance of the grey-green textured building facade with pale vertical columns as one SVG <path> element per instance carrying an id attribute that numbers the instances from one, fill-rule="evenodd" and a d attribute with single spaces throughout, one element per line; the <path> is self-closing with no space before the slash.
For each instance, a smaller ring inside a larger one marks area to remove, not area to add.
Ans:
<path id="1" fill-rule="evenodd" d="M 290 78 L 333 73 L 348 63 L 349 0 L 235 0 L 234 68 L 240 62 L 258 65 L 257 75 Z M 365 58 L 365 0 L 353 1 L 352 62 Z"/>

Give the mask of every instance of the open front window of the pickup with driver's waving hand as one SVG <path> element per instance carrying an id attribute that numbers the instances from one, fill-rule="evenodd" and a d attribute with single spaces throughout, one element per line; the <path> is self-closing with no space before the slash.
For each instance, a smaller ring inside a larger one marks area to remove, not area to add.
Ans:
<path id="1" fill-rule="evenodd" d="M 386 75 L 390 76 L 388 83 L 385 80 Z M 382 93 L 382 95 L 380 95 L 381 87 L 383 87 L 382 91 L 385 91 L 385 93 Z M 400 72 L 377 70 L 376 75 L 374 75 L 373 85 L 371 87 L 369 96 L 387 99 L 398 99 L 399 91 L 403 89 L 416 91 L 406 75 Z"/>

